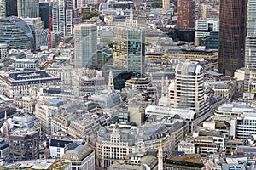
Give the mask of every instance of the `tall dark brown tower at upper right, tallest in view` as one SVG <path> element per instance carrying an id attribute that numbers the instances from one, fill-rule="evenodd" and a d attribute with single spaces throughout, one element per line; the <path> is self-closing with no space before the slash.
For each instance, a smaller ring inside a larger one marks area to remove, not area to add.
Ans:
<path id="1" fill-rule="evenodd" d="M 247 0 L 222 0 L 219 10 L 218 72 L 233 76 L 244 66 Z"/>

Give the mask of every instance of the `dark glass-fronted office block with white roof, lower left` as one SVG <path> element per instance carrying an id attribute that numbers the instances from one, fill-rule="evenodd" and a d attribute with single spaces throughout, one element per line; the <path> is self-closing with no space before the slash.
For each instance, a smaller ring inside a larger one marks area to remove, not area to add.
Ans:
<path id="1" fill-rule="evenodd" d="M 9 133 L 10 162 L 38 159 L 39 132 L 18 129 Z"/>

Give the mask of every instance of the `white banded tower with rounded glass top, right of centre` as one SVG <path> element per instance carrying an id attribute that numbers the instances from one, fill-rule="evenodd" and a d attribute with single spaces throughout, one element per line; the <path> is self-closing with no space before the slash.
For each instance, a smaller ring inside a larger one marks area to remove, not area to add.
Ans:
<path id="1" fill-rule="evenodd" d="M 169 87 L 171 104 L 193 110 L 196 116 L 206 113 L 203 78 L 204 71 L 198 62 L 186 61 L 177 65 L 175 82 Z"/>

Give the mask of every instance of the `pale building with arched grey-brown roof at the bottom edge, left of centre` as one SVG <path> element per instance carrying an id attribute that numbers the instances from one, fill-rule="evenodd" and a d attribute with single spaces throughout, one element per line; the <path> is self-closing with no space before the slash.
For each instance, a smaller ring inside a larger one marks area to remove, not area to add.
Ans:
<path id="1" fill-rule="evenodd" d="M 88 144 L 67 144 L 66 153 L 61 158 L 70 160 L 73 170 L 95 170 L 96 167 L 95 150 Z"/>

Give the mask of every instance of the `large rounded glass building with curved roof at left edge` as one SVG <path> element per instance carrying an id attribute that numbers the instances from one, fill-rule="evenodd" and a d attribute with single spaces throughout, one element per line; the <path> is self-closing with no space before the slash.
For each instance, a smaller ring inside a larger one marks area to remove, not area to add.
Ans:
<path id="1" fill-rule="evenodd" d="M 7 43 L 14 49 L 35 49 L 31 28 L 15 16 L 0 18 L 0 43 Z"/>

